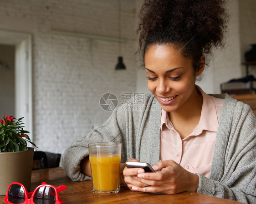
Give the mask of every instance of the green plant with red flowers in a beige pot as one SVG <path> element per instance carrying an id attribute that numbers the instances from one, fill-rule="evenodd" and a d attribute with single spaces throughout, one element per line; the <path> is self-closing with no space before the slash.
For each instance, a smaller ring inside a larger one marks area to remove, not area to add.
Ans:
<path id="1" fill-rule="evenodd" d="M 23 117 L 22 117 L 23 118 Z M 20 182 L 30 189 L 34 148 L 36 146 L 24 130 L 22 118 L 13 116 L 0 120 L 0 195 L 5 195 L 12 182 Z"/>

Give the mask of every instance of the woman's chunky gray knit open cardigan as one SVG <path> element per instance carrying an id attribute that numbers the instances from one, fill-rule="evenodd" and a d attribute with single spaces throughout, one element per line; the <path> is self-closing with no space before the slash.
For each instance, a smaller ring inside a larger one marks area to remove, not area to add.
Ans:
<path id="1" fill-rule="evenodd" d="M 256 203 L 256 119 L 251 108 L 228 95 L 216 135 L 210 176 L 199 176 L 197 193 L 244 203 Z M 143 104 L 124 104 L 102 125 L 74 142 L 61 158 L 65 173 L 74 181 L 90 180 L 80 162 L 92 142 L 122 142 L 122 160 L 155 165 L 159 161 L 161 107 L 154 96 Z M 200 155 L 199 155 L 200 156 Z"/>

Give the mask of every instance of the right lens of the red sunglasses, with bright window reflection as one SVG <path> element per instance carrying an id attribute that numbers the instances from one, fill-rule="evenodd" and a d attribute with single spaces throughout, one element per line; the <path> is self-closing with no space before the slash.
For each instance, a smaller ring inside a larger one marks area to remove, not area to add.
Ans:
<path id="1" fill-rule="evenodd" d="M 37 189 L 33 199 L 35 204 L 55 204 L 55 200 L 55 189 L 49 186 L 42 186 Z"/>

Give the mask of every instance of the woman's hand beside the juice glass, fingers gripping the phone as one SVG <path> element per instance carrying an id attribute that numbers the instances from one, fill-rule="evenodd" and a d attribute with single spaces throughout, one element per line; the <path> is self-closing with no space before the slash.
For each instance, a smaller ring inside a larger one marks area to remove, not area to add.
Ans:
<path id="1" fill-rule="evenodd" d="M 138 160 L 133 158 L 130 158 L 127 161 L 138 162 Z M 142 168 L 127 168 L 125 164 L 123 164 L 120 165 L 120 172 L 121 183 L 124 183 L 128 189 L 133 190 L 133 186 L 138 186 L 139 188 L 148 186 L 147 184 L 143 184 L 142 182 L 138 181 L 137 175 L 145 172 Z"/>

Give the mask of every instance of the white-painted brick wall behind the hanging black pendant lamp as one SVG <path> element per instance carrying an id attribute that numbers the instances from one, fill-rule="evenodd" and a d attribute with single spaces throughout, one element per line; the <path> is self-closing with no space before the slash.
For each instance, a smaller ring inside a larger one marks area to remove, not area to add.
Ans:
<path id="1" fill-rule="evenodd" d="M 122 0 L 122 37 L 134 38 L 135 0 Z M 32 34 L 34 141 L 39 150 L 63 153 L 111 114 L 102 94 L 135 92 L 135 42 L 122 44 L 126 70 L 115 71 L 118 44 L 65 37 L 50 29 L 118 37 L 117 0 L 0 0 L 0 29 Z M 94 68 L 92 68 L 85 59 Z M 106 82 L 95 70 L 109 82 Z M 111 84 L 111 85 L 110 85 Z"/>

